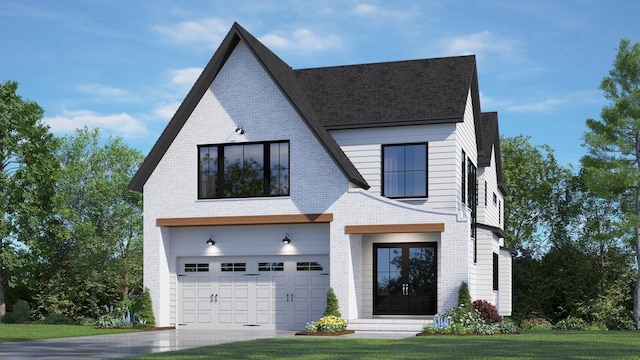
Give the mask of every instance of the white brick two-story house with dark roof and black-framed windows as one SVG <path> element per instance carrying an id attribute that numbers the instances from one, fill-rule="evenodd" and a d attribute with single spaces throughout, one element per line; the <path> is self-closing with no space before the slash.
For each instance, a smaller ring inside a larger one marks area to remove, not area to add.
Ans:
<path id="1" fill-rule="evenodd" d="M 474 56 L 294 70 L 234 24 L 130 187 L 158 325 L 302 330 L 511 313 L 496 113 Z"/>

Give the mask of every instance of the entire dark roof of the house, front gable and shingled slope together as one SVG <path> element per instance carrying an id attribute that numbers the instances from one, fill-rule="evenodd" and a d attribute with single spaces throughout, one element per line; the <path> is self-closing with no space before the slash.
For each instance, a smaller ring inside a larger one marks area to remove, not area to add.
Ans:
<path id="1" fill-rule="evenodd" d="M 328 130 L 462 122 L 469 89 L 474 118 L 480 118 L 475 56 L 293 70 L 234 23 L 134 175 L 130 189 L 143 190 L 240 41 L 246 43 L 345 177 L 364 189 L 369 184 Z M 476 121 L 475 126 L 478 156 L 482 157 L 486 141 L 481 135 L 481 122 Z"/>

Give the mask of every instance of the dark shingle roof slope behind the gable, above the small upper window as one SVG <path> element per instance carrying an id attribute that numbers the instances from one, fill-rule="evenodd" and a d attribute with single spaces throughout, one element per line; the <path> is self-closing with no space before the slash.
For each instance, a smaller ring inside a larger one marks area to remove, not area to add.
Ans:
<path id="1" fill-rule="evenodd" d="M 328 129 L 462 121 L 475 56 L 295 70 Z"/>

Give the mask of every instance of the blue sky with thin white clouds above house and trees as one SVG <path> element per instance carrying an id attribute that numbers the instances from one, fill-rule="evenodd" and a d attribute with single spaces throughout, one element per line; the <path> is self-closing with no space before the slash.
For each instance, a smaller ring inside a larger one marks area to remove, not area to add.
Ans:
<path id="1" fill-rule="evenodd" d="M 638 14 L 632 0 L 3 0 L 0 81 L 54 134 L 99 127 L 146 155 L 234 21 L 293 68 L 475 54 L 502 135 L 577 164 Z"/>

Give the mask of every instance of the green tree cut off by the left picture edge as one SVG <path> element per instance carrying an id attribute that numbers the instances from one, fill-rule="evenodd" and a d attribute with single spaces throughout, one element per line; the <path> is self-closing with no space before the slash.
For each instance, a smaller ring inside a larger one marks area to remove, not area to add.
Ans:
<path id="1" fill-rule="evenodd" d="M 17 94 L 18 83 L 0 84 L 0 315 L 6 286 L 18 281 L 29 245 L 43 237 L 57 141 L 42 122 L 44 111 Z"/>

